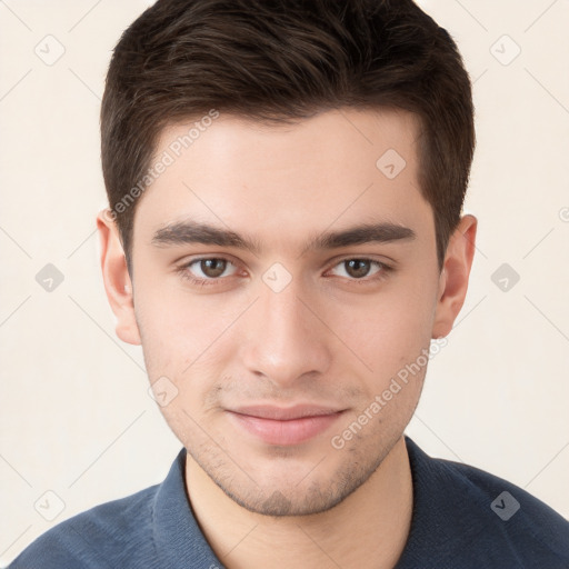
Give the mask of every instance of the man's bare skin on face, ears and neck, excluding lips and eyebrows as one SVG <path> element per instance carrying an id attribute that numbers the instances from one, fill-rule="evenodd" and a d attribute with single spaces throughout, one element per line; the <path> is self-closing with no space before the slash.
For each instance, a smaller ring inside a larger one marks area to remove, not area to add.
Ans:
<path id="1" fill-rule="evenodd" d="M 188 124 L 164 129 L 156 156 Z M 390 568 L 405 548 L 403 430 L 427 366 L 341 449 L 331 440 L 450 332 L 467 293 L 477 219 L 461 218 L 439 272 L 418 134 L 412 114 L 392 110 L 326 111 L 286 127 L 221 114 L 140 198 L 132 280 L 116 226 L 98 217 L 117 335 L 142 346 L 151 382 L 167 377 L 178 390 L 160 409 L 188 450 L 194 515 L 228 568 Z M 393 179 L 376 167 L 388 149 L 407 162 Z M 187 219 L 246 234 L 260 250 L 152 244 L 158 229 Z M 326 231 L 386 220 L 417 237 L 302 252 Z M 211 278 L 199 262 L 187 267 L 202 257 L 232 264 L 213 284 L 193 284 L 182 274 Z M 369 273 L 355 277 L 342 261 L 361 258 L 393 270 L 365 264 Z M 276 262 L 291 278 L 279 292 L 263 281 Z M 251 436 L 227 411 L 299 402 L 343 412 L 284 446 Z"/>

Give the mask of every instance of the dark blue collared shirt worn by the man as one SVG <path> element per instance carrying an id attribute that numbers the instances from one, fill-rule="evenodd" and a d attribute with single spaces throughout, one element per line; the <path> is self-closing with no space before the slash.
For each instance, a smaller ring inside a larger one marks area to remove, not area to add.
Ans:
<path id="1" fill-rule="evenodd" d="M 559 513 L 501 478 L 405 440 L 413 511 L 395 569 L 569 568 L 569 522 Z M 184 465 L 182 449 L 162 483 L 62 521 L 9 569 L 222 569 L 193 517 Z"/>

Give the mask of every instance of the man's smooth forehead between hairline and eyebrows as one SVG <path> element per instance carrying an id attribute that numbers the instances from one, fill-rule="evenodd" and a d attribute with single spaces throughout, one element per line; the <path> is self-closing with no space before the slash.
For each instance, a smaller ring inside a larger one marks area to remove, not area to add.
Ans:
<path id="1" fill-rule="evenodd" d="M 341 109 L 277 126 L 221 113 L 207 124 L 162 131 L 152 164 L 166 167 L 137 206 L 134 236 L 144 242 L 189 218 L 299 247 L 355 221 L 428 230 L 411 113 Z"/>

